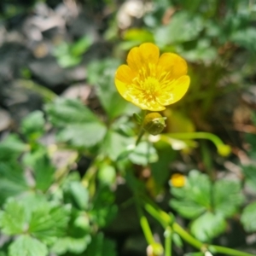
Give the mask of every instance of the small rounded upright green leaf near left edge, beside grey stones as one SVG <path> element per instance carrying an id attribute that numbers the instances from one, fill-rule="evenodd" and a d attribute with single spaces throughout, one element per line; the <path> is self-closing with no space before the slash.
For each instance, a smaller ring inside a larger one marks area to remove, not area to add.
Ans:
<path id="1" fill-rule="evenodd" d="M 22 120 L 20 130 L 26 137 L 35 140 L 44 133 L 44 122 L 44 113 L 37 110 Z"/>

